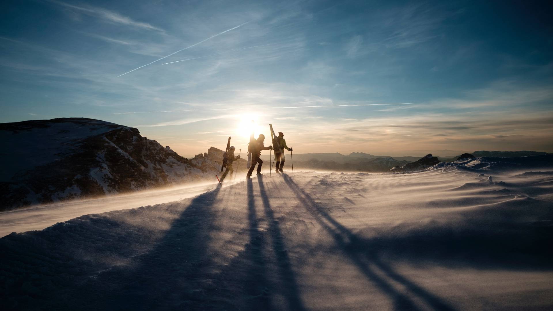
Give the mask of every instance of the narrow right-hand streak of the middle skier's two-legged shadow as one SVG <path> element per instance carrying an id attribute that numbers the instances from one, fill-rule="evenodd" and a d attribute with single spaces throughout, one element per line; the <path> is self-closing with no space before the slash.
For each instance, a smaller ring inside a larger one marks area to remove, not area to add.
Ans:
<path id="1" fill-rule="evenodd" d="M 276 261 L 280 276 L 280 291 L 283 291 L 283 296 L 286 297 L 289 310 L 304 310 L 304 305 L 301 302 L 298 284 L 294 276 L 294 271 L 290 262 L 290 257 L 286 251 L 283 235 L 280 231 L 279 222 L 275 220 L 273 209 L 269 204 L 269 196 L 265 191 L 263 177 L 259 176 L 259 193 L 263 202 L 265 217 L 267 217 L 269 225 L 269 236 L 273 240 L 273 251 L 276 256 Z"/>

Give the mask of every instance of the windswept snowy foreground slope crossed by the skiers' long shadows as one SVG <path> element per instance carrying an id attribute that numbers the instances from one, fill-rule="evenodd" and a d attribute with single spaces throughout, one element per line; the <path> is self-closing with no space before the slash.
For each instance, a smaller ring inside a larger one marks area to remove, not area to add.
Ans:
<path id="1" fill-rule="evenodd" d="M 551 172 L 265 174 L 3 237 L 0 303 L 546 310 L 552 200 Z"/>

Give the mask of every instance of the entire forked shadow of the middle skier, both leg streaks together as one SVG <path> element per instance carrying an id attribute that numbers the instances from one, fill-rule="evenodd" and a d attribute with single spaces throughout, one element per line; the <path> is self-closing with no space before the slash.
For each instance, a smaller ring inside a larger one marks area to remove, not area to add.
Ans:
<path id="1" fill-rule="evenodd" d="M 213 287 L 208 289 L 205 300 L 197 300 L 189 309 L 202 310 L 274 310 L 283 309 L 270 302 L 271 297 L 284 297 L 288 310 L 304 310 L 290 258 L 286 253 L 284 239 L 278 221 L 274 219 L 263 179 L 259 178 L 259 190 L 268 229 L 259 228 L 255 208 L 252 180 L 247 181 L 248 242 L 221 272 L 213 276 Z M 272 251 L 267 250 L 271 240 Z M 273 258 L 274 253 L 274 258 Z M 273 260 L 275 263 L 273 264 Z M 268 277 L 276 267 L 279 281 Z"/>

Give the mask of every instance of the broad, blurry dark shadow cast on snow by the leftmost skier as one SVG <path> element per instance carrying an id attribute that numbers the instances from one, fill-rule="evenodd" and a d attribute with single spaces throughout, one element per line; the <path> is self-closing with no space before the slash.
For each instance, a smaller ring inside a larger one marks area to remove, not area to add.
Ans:
<path id="1" fill-rule="evenodd" d="M 137 268 L 114 268 L 100 274 L 93 284 L 77 289 L 73 296 L 85 298 L 79 308 L 173 309 L 186 308 L 199 299 L 201 282 L 209 278 L 203 268 L 211 264 L 207 245 L 220 189 L 217 186 L 193 199 L 154 248 L 137 258 Z"/>

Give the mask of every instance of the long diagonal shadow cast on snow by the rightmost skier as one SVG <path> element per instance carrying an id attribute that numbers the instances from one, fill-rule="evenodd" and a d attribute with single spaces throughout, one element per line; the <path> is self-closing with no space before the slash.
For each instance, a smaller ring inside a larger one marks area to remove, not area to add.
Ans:
<path id="1" fill-rule="evenodd" d="M 413 300 L 405 294 L 397 291 L 392 283 L 387 279 L 380 277 L 377 272 L 371 266 L 375 266 L 384 274 L 393 279 L 395 282 L 402 284 L 411 294 L 414 294 L 424 300 L 432 309 L 435 310 L 453 310 L 453 308 L 447 304 L 441 298 L 434 296 L 434 294 L 426 291 L 426 289 L 418 286 L 417 284 L 409 281 L 399 273 L 395 272 L 390 266 L 386 265 L 380 260 L 377 254 L 370 249 L 367 249 L 363 243 L 363 240 L 354 235 L 346 227 L 342 226 L 340 222 L 333 219 L 320 204 L 309 196 L 304 190 L 300 188 L 294 181 L 287 175 L 283 174 L 284 182 L 288 184 L 290 189 L 296 194 L 300 202 L 305 206 L 307 211 L 310 212 L 315 220 L 328 231 L 328 233 L 335 239 L 338 246 L 342 248 L 342 251 L 351 259 L 353 263 L 365 274 L 365 276 L 375 284 L 390 298 L 393 299 L 394 308 L 396 310 L 418 310 L 419 308 L 414 304 Z"/>

